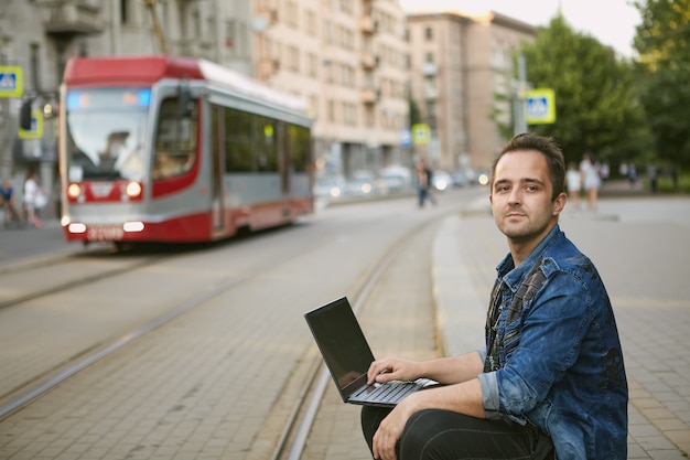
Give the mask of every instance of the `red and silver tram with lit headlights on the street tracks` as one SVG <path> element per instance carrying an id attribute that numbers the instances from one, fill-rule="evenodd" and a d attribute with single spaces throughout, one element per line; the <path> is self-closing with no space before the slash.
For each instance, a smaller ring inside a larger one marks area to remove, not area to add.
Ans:
<path id="1" fill-rule="evenodd" d="M 60 115 L 68 242 L 209 242 L 313 212 L 305 104 L 217 64 L 75 57 Z"/>

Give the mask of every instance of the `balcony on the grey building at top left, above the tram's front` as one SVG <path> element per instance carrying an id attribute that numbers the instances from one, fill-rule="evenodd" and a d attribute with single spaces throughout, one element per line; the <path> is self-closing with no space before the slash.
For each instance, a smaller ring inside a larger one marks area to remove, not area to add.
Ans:
<path id="1" fill-rule="evenodd" d="M 54 36 L 93 35 L 101 33 L 100 7 L 84 0 L 40 3 L 45 33 Z"/>

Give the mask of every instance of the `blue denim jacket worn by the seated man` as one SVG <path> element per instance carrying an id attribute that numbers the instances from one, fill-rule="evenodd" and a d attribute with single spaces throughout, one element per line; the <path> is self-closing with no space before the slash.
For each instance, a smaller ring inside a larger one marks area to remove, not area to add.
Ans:
<path id="1" fill-rule="evenodd" d="M 541 287 L 514 302 L 536 272 Z M 559 460 L 625 460 L 623 354 L 611 301 L 592 261 L 557 225 L 520 266 L 514 267 L 510 255 L 498 265 L 494 292 L 499 364 L 479 375 L 486 417 L 537 426 L 551 437 Z M 521 312 L 510 314 L 516 303 Z M 487 329 L 487 347 L 488 335 Z M 486 359 L 486 350 L 481 353 Z"/>

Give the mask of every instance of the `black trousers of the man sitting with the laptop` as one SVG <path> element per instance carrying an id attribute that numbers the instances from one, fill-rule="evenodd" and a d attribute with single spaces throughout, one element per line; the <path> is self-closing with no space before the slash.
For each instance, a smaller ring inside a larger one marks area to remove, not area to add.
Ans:
<path id="1" fill-rule="evenodd" d="M 389 408 L 364 406 L 362 430 L 371 451 Z M 396 446 L 398 460 L 553 459 L 551 439 L 533 426 L 427 409 L 412 415 Z"/>

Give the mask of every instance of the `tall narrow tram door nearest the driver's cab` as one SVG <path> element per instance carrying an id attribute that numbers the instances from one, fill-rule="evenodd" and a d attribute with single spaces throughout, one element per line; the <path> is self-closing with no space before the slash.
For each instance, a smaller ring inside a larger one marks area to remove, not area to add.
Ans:
<path id="1" fill-rule="evenodd" d="M 225 171 L 225 156 L 220 154 L 225 146 L 224 111 L 220 107 L 212 107 L 211 116 L 211 220 L 213 233 L 224 229 L 223 176 Z"/>

